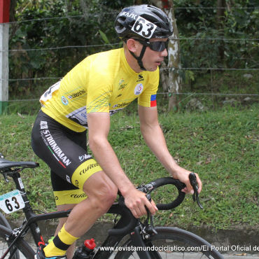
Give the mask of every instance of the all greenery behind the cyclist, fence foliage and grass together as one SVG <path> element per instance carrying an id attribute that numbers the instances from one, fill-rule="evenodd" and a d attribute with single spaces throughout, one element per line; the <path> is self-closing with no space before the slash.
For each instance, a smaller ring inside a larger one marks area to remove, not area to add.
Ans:
<path id="1" fill-rule="evenodd" d="M 11 21 L 18 23 L 10 24 L 9 96 L 10 100 L 35 101 L 8 103 L 6 115 L 0 116 L 0 153 L 9 160 L 40 163 L 37 169 L 22 172 L 22 179 L 34 209 L 54 211 L 48 167 L 30 146 L 38 99 L 87 55 L 121 46 L 113 20 L 132 0 L 90 0 L 87 4 L 78 0 L 12 2 Z M 190 94 L 178 97 L 179 113 L 167 113 L 168 96 L 158 94 L 160 124 L 169 151 L 179 165 L 200 174 L 205 209 L 201 211 L 192 197 L 187 196 L 174 211 L 158 212 L 156 223 L 181 228 L 193 225 L 214 229 L 258 228 L 258 96 L 228 97 L 228 94 L 258 94 L 258 71 L 238 70 L 258 69 L 259 43 L 248 40 L 258 38 L 258 3 L 226 2 L 228 8 L 218 15 L 216 0 L 174 1 L 182 38 L 181 67 L 190 68 L 180 72 L 181 92 Z M 104 45 L 107 43 L 113 45 Z M 71 45 L 80 48 L 58 49 Z M 160 87 L 159 92 L 165 90 Z M 191 99 L 195 99 L 193 106 Z M 136 106 L 133 103 L 111 118 L 109 139 L 125 172 L 139 185 L 168 174 L 144 144 L 137 113 L 132 112 Z M 12 188 L 11 183 L 0 180 L 1 194 Z M 165 188 L 156 193 L 155 201 L 165 202 L 172 193 L 174 190 Z M 19 212 L 10 215 L 19 216 Z"/>

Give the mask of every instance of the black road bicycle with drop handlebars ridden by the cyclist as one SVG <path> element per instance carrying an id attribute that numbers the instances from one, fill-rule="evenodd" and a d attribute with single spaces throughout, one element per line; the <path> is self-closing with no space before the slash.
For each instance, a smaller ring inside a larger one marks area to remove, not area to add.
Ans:
<path id="1" fill-rule="evenodd" d="M 25 241 L 25 236 L 31 230 L 31 235 L 36 246 L 44 246 L 45 241 L 38 228 L 38 221 L 50 220 L 53 218 L 67 217 L 70 211 L 57 211 L 46 214 L 35 214 L 29 203 L 25 186 L 22 183 L 20 172 L 25 168 L 33 169 L 38 167 L 36 162 L 13 162 L 0 158 L 0 172 L 4 179 L 12 178 L 17 190 L 0 196 L 0 207 L 5 212 L 13 212 L 22 209 L 25 220 L 19 228 L 12 229 L 10 224 L 0 214 L 0 258 L 25 258 L 33 259 L 35 251 Z M 195 190 L 193 200 L 197 201 L 200 207 L 197 193 L 197 182 L 195 174 L 190 174 L 190 181 Z M 165 177 L 151 181 L 138 187 L 146 193 L 151 200 L 151 193 L 160 186 L 173 185 L 178 190 L 178 196 L 167 204 L 157 204 L 159 210 L 173 209 L 185 197 L 181 190 L 184 184 L 172 177 Z M 223 256 L 216 251 L 214 246 L 191 232 L 180 228 L 155 227 L 153 216 L 147 211 L 147 216 L 141 219 L 134 218 L 132 213 L 124 204 L 122 195 L 119 194 L 108 214 L 120 216 L 114 223 L 111 230 L 101 246 L 95 248 L 92 259 L 177 259 L 177 258 L 215 258 L 222 259 Z"/>

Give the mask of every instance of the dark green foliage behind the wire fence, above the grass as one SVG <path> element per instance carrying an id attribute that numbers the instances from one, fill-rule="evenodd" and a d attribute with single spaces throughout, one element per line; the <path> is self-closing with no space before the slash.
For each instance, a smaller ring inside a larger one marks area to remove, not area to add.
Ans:
<path id="1" fill-rule="evenodd" d="M 10 25 L 9 78 L 34 79 L 10 80 L 10 99 L 25 96 L 38 98 L 57 78 L 64 76 L 87 55 L 120 47 L 121 43 L 113 29 L 116 15 L 125 6 L 152 2 L 12 0 L 11 19 L 17 22 Z M 248 38 L 259 38 L 258 1 L 227 0 L 226 8 L 223 9 L 225 11 L 220 17 L 216 3 L 216 0 L 174 1 L 176 22 L 180 37 L 183 38 L 181 66 L 258 68 L 259 41 L 248 41 Z M 108 43 L 112 45 L 104 45 Z M 58 47 L 62 49 L 57 49 Z M 223 56 L 219 53 L 222 49 Z M 208 73 L 209 69 L 181 71 L 183 92 L 211 90 L 211 87 L 204 89 L 197 83 L 200 78 L 204 80 Z M 224 71 L 217 71 L 215 74 L 225 77 Z M 208 82 L 210 81 L 211 78 L 208 78 Z M 214 92 L 221 92 L 221 89 L 216 87 Z M 256 92 L 251 89 L 251 93 L 257 92 L 258 89 Z"/>

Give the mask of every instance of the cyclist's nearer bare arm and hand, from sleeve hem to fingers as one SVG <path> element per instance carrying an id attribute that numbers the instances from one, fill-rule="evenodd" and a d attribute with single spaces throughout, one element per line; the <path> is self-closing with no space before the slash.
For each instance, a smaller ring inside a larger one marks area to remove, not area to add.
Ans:
<path id="1" fill-rule="evenodd" d="M 151 214 L 155 214 L 157 208 L 154 202 L 149 202 L 146 195 L 137 190 L 127 178 L 125 172 L 120 167 L 120 162 L 108 141 L 110 130 L 109 113 L 88 113 L 88 138 L 89 146 L 94 154 L 94 158 L 102 167 L 104 172 L 116 184 L 120 193 L 125 197 L 126 206 L 132 214 L 139 218 L 146 214 L 145 206 Z"/>

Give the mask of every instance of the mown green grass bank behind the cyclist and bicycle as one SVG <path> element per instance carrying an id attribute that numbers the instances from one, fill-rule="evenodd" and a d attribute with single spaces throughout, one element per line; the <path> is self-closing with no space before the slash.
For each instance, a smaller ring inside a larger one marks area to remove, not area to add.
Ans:
<path id="1" fill-rule="evenodd" d="M 136 113 L 129 109 L 111 118 L 111 142 L 123 169 L 136 185 L 168 173 L 144 144 Z M 129 115 L 130 113 L 130 115 Z M 40 167 L 25 169 L 23 182 L 34 209 L 54 211 L 49 170 L 30 146 L 35 116 L 0 116 L 1 153 L 8 160 L 34 160 Z M 181 228 L 206 225 L 232 230 L 240 226 L 258 228 L 258 106 L 228 107 L 218 111 L 161 113 L 160 125 L 169 151 L 182 167 L 200 174 L 204 210 L 188 195 L 173 211 L 158 212 L 155 223 Z M 0 180 L 1 194 L 12 189 Z M 174 190 L 155 193 L 156 202 L 170 200 Z M 18 217 L 18 214 L 11 214 Z M 109 218 L 104 218 L 109 220 Z"/>

